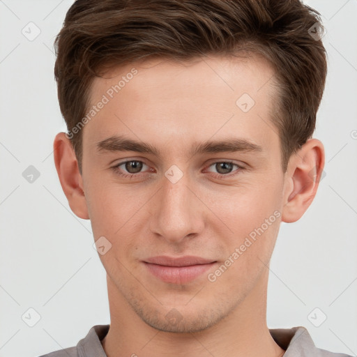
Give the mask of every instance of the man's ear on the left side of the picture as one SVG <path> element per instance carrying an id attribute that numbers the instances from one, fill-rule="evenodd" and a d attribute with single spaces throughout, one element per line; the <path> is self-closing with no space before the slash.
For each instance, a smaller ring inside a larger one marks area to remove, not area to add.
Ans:
<path id="1" fill-rule="evenodd" d="M 59 132 L 56 135 L 53 148 L 54 165 L 56 165 L 59 181 L 68 199 L 70 209 L 77 217 L 89 220 L 82 175 L 79 173 L 75 151 L 65 132 Z"/>

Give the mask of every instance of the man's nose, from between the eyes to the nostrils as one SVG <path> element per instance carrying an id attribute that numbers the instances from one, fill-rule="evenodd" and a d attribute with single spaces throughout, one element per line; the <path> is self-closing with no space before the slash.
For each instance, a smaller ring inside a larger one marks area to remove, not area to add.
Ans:
<path id="1" fill-rule="evenodd" d="M 192 189 L 194 186 L 185 174 L 176 183 L 166 176 L 162 177 L 162 187 L 155 195 L 151 210 L 150 228 L 153 234 L 177 244 L 203 231 L 206 212 L 199 192 Z"/>

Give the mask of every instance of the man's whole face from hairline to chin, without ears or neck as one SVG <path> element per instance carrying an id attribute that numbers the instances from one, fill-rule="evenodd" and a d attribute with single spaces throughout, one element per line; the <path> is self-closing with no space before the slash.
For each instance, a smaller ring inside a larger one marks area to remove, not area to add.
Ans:
<path id="1" fill-rule="evenodd" d="M 263 59 L 217 56 L 93 82 L 91 105 L 105 102 L 83 129 L 93 235 L 112 298 L 154 328 L 213 326 L 266 276 L 284 188 L 272 76 Z"/>

